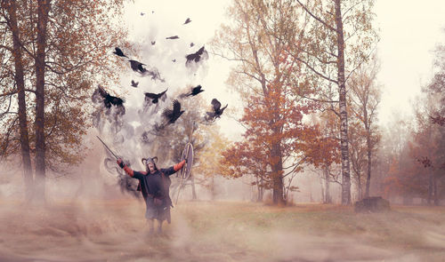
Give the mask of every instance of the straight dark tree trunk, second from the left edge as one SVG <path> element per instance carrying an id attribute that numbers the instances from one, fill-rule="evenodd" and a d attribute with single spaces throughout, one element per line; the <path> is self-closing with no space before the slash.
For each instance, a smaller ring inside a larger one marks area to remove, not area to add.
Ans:
<path id="1" fill-rule="evenodd" d="M 44 58 L 46 28 L 51 0 L 37 1 L 36 52 L 36 200 L 45 202 L 45 145 L 44 145 Z"/>

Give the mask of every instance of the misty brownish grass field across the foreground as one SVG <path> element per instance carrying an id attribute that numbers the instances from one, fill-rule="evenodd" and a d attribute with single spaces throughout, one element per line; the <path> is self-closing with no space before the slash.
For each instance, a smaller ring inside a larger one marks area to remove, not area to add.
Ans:
<path id="1" fill-rule="evenodd" d="M 444 261 L 445 208 L 180 202 L 149 236 L 134 199 L 0 201 L 0 261 Z"/>

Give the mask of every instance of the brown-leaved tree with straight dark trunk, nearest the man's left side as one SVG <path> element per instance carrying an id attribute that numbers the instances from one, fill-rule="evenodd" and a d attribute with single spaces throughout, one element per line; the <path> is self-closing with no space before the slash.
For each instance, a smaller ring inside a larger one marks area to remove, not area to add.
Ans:
<path id="1" fill-rule="evenodd" d="M 64 164 L 80 163 L 83 158 L 81 138 L 88 128 L 89 113 L 85 102 L 92 79 L 116 83 L 112 73 L 118 63 L 109 60 L 106 51 L 117 39 L 124 39 L 125 30 L 114 27 L 108 18 L 110 13 L 119 15 L 123 1 L 15 1 L 12 7 L 8 2 L 2 2 L 2 26 L 5 36 L 16 39 L 23 54 L 26 118 L 34 118 L 34 124 L 28 126 L 28 133 L 35 134 L 29 137 L 30 153 L 36 159 L 34 199 L 44 201 L 45 171 L 63 171 Z M 8 8 L 19 12 L 17 27 Z M 0 48 L 12 52 L 12 44 L 6 41 Z M 2 93 L 12 101 L 20 94 L 19 85 L 16 88 L 16 81 L 13 83 Z M 6 130 L 16 123 L 17 110 L 22 112 L 23 103 L 7 108 L 0 119 L 7 124 Z M 13 150 L 17 145 L 26 145 L 26 139 L 18 139 L 16 132 L 7 133 L 10 136 L 2 141 L 8 148 L 4 157 L 17 154 Z"/>

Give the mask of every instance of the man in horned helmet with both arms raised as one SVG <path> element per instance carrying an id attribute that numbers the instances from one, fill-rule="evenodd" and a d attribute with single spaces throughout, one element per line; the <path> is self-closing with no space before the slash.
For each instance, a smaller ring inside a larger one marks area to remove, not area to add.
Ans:
<path id="1" fill-rule="evenodd" d="M 170 207 L 172 200 L 169 195 L 169 187 L 172 183 L 169 176 L 182 169 L 185 160 L 181 163 L 176 163 L 166 169 L 158 170 L 155 161 L 158 157 L 142 158 L 142 163 L 145 165 L 146 171 L 133 171 L 126 166 L 122 159 L 117 159 L 117 164 L 124 169 L 124 171 L 132 178 L 139 179 L 138 190 L 142 191 L 142 196 L 145 200 L 145 218 L 149 223 L 150 233 L 154 233 L 154 219 L 158 220 L 158 234 L 162 234 L 162 223 L 164 220 L 170 224 Z"/>

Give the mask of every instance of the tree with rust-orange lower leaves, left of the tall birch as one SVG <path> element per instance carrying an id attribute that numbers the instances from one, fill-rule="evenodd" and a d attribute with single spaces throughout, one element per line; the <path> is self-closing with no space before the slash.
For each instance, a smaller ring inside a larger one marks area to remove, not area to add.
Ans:
<path id="1" fill-rule="evenodd" d="M 302 118 L 313 106 L 291 92 L 300 72 L 286 54 L 285 39 L 295 32 L 297 20 L 293 6 L 278 0 L 234 1 L 233 23 L 223 26 L 213 43 L 216 53 L 238 62 L 229 81 L 246 103 L 239 120 L 247 128 L 245 140 L 223 153 L 228 171 L 264 176 L 275 204 L 285 202 L 284 179 L 301 170 L 301 141 L 311 135 Z"/>

